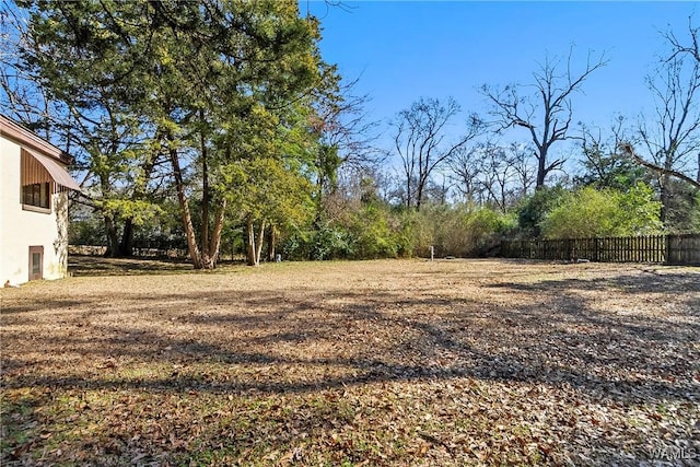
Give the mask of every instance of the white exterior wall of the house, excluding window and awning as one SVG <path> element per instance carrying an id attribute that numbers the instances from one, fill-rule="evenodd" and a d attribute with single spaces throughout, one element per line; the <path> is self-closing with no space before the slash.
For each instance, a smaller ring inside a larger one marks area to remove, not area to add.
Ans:
<path id="1" fill-rule="evenodd" d="M 0 287 L 28 280 L 30 246 L 44 246 L 44 279 L 65 277 L 68 266 L 67 194 L 52 195 L 50 213 L 23 210 L 20 154 L 19 144 L 0 138 Z"/>

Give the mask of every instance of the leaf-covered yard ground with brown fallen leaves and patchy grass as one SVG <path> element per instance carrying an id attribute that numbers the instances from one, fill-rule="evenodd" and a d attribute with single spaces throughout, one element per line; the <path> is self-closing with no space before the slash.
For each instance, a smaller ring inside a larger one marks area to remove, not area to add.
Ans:
<path id="1" fill-rule="evenodd" d="M 700 463 L 699 268 L 100 261 L 0 291 L 2 465 Z"/>

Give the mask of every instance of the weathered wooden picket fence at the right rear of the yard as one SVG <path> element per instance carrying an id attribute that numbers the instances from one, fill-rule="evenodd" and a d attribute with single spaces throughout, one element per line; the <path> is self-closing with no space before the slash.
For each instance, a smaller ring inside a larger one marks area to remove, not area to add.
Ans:
<path id="1" fill-rule="evenodd" d="M 501 256 L 602 262 L 700 265 L 700 234 L 504 241 Z"/>

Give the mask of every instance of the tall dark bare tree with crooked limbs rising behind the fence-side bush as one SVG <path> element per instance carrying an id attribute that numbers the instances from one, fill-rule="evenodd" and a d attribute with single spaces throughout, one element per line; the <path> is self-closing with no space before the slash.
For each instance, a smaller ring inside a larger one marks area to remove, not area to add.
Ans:
<path id="1" fill-rule="evenodd" d="M 563 159 L 550 160 L 551 147 L 557 141 L 576 138 L 569 133 L 573 116 L 572 94 L 580 92 L 591 73 L 607 63 L 605 55 L 594 58 L 588 52 L 584 69 L 575 72 L 571 63 L 572 52 L 573 49 L 565 62 L 546 57 L 533 73 L 532 84 L 512 84 L 502 90 L 487 84 L 481 87 L 481 94 L 492 104 L 490 114 L 495 118 L 492 124 L 499 132 L 514 127 L 529 131 L 537 159 L 537 187 L 544 186 L 547 175 L 564 163 Z M 534 90 L 532 94 L 528 93 L 530 89 Z"/>

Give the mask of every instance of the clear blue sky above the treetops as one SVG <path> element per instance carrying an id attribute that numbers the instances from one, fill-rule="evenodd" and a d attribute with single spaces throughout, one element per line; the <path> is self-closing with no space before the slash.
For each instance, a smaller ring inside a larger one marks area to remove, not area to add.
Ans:
<path id="1" fill-rule="evenodd" d="M 572 45 L 574 69 L 588 50 L 606 52 L 607 67 L 574 97 L 574 121 L 607 128 L 619 113 L 635 119 L 652 102 L 644 75 L 665 50 L 660 31 L 700 23 L 700 2 L 472 2 L 301 0 L 322 21 L 322 54 L 343 77 L 360 77 L 375 119 L 386 122 L 420 96 L 453 96 L 483 114 L 483 83 L 528 83 L 546 54 Z M 526 135 L 522 135 L 526 138 Z"/>

